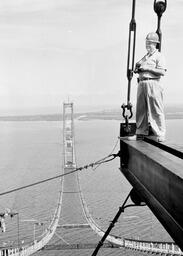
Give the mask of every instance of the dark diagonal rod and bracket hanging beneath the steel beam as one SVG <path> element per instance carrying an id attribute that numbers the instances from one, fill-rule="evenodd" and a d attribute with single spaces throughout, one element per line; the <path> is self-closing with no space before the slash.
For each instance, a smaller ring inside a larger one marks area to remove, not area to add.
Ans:
<path id="1" fill-rule="evenodd" d="M 136 196 L 134 196 L 135 194 L 136 194 Z M 133 204 L 126 204 L 128 199 L 129 199 L 129 197 L 131 198 Z M 137 191 L 132 189 L 130 191 L 130 193 L 127 195 L 127 197 L 126 197 L 125 201 L 123 202 L 122 206 L 119 207 L 119 210 L 118 210 L 117 214 L 115 215 L 115 217 L 111 221 L 108 229 L 104 233 L 103 237 L 99 241 L 98 245 L 96 246 L 96 248 L 95 248 L 95 250 L 94 250 L 94 252 L 92 253 L 91 256 L 96 256 L 98 254 L 98 251 L 102 247 L 105 239 L 107 238 L 107 236 L 109 235 L 111 230 L 114 228 L 115 223 L 118 221 L 121 213 L 123 213 L 126 208 L 134 207 L 134 206 L 146 206 L 146 204 L 143 202 L 143 199 L 139 197 L 139 195 L 137 194 Z"/>

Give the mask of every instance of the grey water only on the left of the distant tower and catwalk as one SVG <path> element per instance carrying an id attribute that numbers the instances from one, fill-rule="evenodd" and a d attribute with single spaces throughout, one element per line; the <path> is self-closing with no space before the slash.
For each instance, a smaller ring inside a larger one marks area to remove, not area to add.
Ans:
<path id="1" fill-rule="evenodd" d="M 62 134 L 59 125 L 52 122 L 0 123 L 1 192 L 60 173 Z M 10 208 L 19 213 L 21 241 L 26 243 L 33 239 L 35 221 L 49 222 L 58 190 L 57 180 L 0 198 L 1 212 Z M 7 241 L 8 244 L 17 243 L 17 238 L 14 239 L 17 225 L 17 217 L 7 219 L 7 233 L 1 234 L 1 245 Z M 37 228 L 38 235 L 41 229 Z"/>

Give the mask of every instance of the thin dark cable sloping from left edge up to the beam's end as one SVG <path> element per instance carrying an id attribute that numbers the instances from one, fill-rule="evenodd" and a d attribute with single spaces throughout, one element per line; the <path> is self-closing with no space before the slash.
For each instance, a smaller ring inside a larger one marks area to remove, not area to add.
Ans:
<path id="1" fill-rule="evenodd" d="M 56 175 L 56 176 L 53 176 L 53 177 L 50 177 L 50 178 L 47 178 L 47 179 L 44 179 L 44 180 L 40 180 L 40 181 L 31 183 L 31 184 L 28 184 L 28 185 L 25 185 L 25 186 L 21 186 L 21 187 L 18 187 L 18 188 L 7 190 L 5 192 L 1 192 L 0 196 L 4 196 L 4 195 L 7 195 L 7 194 L 10 194 L 10 193 L 13 193 L 13 192 L 17 192 L 19 190 L 23 190 L 23 189 L 26 189 L 26 188 L 29 188 L 29 187 L 33 187 L 33 186 L 36 186 L 36 185 L 40 185 L 42 183 L 45 183 L 45 182 L 48 182 L 48 181 L 51 181 L 51 180 L 54 180 L 54 179 L 59 179 L 59 178 L 62 178 L 64 176 L 67 176 L 69 174 L 72 174 L 72 173 L 75 173 L 75 172 L 78 172 L 78 171 L 82 171 L 84 169 L 88 169 L 89 167 L 93 167 L 95 165 L 99 165 L 99 164 L 104 164 L 104 163 L 110 162 L 110 161 L 114 160 L 116 157 L 119 157 L 119 156 L 120 156 L 120 151 L 117 154 L 110 154 L 110 155 L 108 155 L 108 156 L 106 156 L 106 157 L 104 157 L 104 158 L 102 158 L 102 159 L 100 159 L 100 160 L 98 160 L 98 161 L 96 161 L 94 163 L 90 163 L 88 165 L 75 168 L 75 169 L 73 169 L 70 172 L 67 172 L 67 173 L 64 173 L 64 174 L 59 174 L 59 175 Z"/>

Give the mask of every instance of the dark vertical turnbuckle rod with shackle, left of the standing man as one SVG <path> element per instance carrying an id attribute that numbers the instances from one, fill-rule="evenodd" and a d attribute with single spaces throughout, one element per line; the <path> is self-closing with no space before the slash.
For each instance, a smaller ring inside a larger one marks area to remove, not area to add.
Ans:
<path id="1" fill-rule="evenodd" d="M 129 38 L 128 38 L 128 58 L 127 58 L 127 79 L 128 79 L 128 92 L 127 92 L 127 104 L 123 104 L 121 108 L 123 109 L 123 117 L 125 119 L 126 127 L 128 129 L 129 119 L 132 118 L 132 104 L 130 103 L 130 93 L 131 93 L 131 80 L 134 73 L 134 60 L 135 60 L 135 42 L 136 42 L 136 21 L 135 21 L 135 5 L 136 0 L 132 3 L 132 17 L 129 24 Z M 129 110 L 130 115 L 126 114 L 126 110 Z"/>

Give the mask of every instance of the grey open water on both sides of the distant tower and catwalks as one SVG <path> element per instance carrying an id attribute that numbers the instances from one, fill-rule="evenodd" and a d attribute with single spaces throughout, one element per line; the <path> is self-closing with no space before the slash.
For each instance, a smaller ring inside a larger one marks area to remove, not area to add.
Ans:
<path id="1" fill-rule="evenodd" d="M 183 120 L 167 121 L 167 138 L 183 145 Z M 59 174 L 62 170 L 61 122 L 0 122 L 0 192 Z M 78 166 L 95 162 L 111 153 L 117 142 L 119 121 L 75 121 Z M 119 144 L 114 152 L 119 150 Z M 119 159 L 101 165 L 95 171 L 80 174 L 85 200 L 95 221 L 104 229 L 130 190 L 119 171 Z M 58 199 L 59 181 L 44 183 L 0 197 L 0 212 L 10 208 L 18 212 L 20 243 L 33 240 L 48 225 Z M 1 233 L 0 246 L 16 244 L 17 215 L 6 220 L 7 232 Z M 113 234 L 122 237 L 166 240 L 171 238 L 147 207 L 127 210 L 116 224 Z M 50 254 L 51 255 L 51 254 Z"/>

